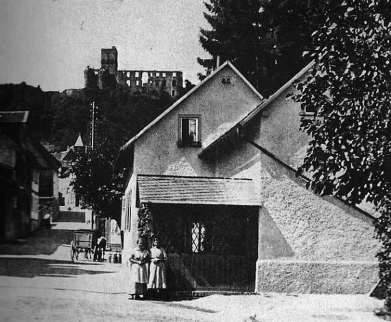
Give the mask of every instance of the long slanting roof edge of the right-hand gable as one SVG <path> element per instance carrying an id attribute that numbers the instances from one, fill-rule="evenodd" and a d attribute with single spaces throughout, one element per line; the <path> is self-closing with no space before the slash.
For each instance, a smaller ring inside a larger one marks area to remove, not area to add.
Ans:
<path id="1" fill-rule="evenodd" d="M 204 150 L 202 150 L 200 152 L 200 154 L 198 154 L 198 157 L 200 157 L 200 158 L 205 157 L 206 154 L 208 154 L 209 151 L 213 147 L 217 146 L 217 144 L 224 141 L 224 139 L 226 139 L 226 137 L 228 137 L 229 135 L 236 133 L 237 128 L 241 128 L 241 127 L 245 126 L 246 124 L 248 124 L 248 122 L 250 122 L 255 116 L 257 116 L 266 106 L 268 106 L 271 102 L 276 100 L 276 98 L 279 97 L 286 89 L 291 87 L 292 84 L 296 80 L 298 80 L 298 78 L 302 77 L 305 73 L 307 73 L 307 71 L 309 71 L 309 69 L 311 69 L 314 64 L 315 64 L 315 62 L 312 61 L 306 67 L 304 67 L 301 71 L 296 73 L 296 75 L 293 78 L 291 78 L 291 80 L 289 80 L 287 83 L 285 83 L 283 85 L 283 87 L 281 87 L 278 91 L 276 91 L 276 93 L 274 93 L 273 95 L 268 97 L 267 100 L 265 100 L 261 104 L 259 104 L 250 113 L 248 113 L 248 115 L 246 115 L 243 119 L 241 119 L 239 122 L 237 122 L 237 124 L 235 124 L 231 128 L 228 128 L 228 130 L 226 130 L 222 135 L 220 135 L 220 137 L 217 137 L 217 139 L 215 139 L 215 141 L 209 143 L 209 145 L 206 146 L 204 148 Z"/>

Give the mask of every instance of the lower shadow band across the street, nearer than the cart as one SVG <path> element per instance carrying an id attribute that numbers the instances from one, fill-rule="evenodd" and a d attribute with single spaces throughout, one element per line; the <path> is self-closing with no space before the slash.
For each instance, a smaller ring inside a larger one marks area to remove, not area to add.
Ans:
<path id="1" fill-rule="evenodd" d="M 82 265 L 100 266 L 95 263 Z M 92 268 L 92 266 L 90 266 Z M 80 264 L 64 260 L 46 260 L 27 257 L 0 257 L 0 276 L 12 277 L 75 277 L 77 275 L 97 275 L 115 273 L 115 271 L 93 271 L 80 267 Z"/>

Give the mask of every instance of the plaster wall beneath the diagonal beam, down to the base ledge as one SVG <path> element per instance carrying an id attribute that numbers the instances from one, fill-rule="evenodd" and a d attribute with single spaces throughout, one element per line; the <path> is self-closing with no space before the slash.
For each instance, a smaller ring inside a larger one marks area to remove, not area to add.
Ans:
<path id="1" fill-rule="evenodd" d="M 259 258 L 375 261 L 372 219 L 305 187 L 294 172 L 249 143 L 217 157 L 217 174 L 253 179 L 259 188 Z M 289 249 L 287 249 L 289 245 Z"/>

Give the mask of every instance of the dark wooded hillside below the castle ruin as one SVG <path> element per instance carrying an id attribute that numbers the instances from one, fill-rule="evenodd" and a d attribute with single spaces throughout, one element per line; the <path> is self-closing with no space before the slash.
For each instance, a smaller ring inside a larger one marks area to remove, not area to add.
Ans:
<path id="1" fill-rule="evenodd" d="M 130 93 L 122 89 L 78 89 L 45 92 L 25 83 L 0 85 L 1 111 L 29 111 L 29 135 L 66 150 L 82 133 L 91 144 L 91 102 L 95 115 L 95 141 L 109 140 L 121 146 L 172 104 L 165 92 Z"/>

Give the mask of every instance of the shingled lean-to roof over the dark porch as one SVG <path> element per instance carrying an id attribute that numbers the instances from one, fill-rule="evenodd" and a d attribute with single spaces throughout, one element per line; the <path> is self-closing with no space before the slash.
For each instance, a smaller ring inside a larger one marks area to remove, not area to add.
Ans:
<path id="1" fill-rule="evenodd" d="M 137 176 L 139 203 L 261 206 L 251 179 Z"/>

